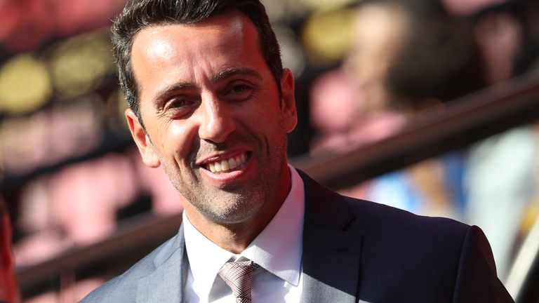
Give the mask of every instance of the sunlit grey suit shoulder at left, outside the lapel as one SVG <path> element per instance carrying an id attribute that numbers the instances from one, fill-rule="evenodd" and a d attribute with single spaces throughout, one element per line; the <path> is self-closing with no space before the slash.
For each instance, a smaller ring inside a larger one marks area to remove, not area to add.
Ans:
<path id="1" fill-rule="evenodd" d="M 135 302 L 139 279 L 155 271 L 173 250 L 178 249 L 178 242 L 181 242 L 181 238 L 182 233 L 178 233 L 173 238 L 168 239 L 168 241 L 153 250 L 152 253 L 135 263 L 124 274 L 112 278 L 93 290 L 81 302 Z"/>

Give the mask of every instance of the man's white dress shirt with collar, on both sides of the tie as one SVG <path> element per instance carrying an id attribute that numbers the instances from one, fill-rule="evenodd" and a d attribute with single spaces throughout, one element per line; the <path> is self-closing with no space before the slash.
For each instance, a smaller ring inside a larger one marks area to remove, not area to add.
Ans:
<path id="1" fill-rule="evenodd" d="M 218 271 L 225 262 L 246 259 L 260 265 L 253 272 L 253 302 L 301 302 L 305 192 L 298 172 L 292 166 L 288 167 L 292 186 L 283 205 L 265 229 L 239 255 L 209 241 L 183 214 L 189 258 L 189 274 L 184 288 L 187 302 L 236 302 L 232 290 L 218 276 Z"/>

